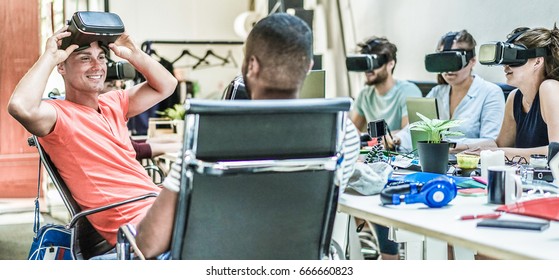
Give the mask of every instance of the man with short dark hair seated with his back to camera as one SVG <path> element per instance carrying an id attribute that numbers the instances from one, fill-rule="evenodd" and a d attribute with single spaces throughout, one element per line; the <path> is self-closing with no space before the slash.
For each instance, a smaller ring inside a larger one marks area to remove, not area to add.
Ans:
<path id="1" fill-rule="evenodd" d="M 253 27 L 245 43 L 242 74 L 247 93 L 251 99 L 297 98 L 312 64 L 309 26 L 286 13 L 272 14 Z M 341 190 L 359 155 L 359 135 L 349 118 L 343 152 L 344 162 L 340 170 L 343 175 L 338 177 L 341 178 Z M 146 258 L 154 258 L 169 250 L 180 185 L 180 163 L 179 159 L 173 164 L 163 182 L 165 188 L 137 228 L 136 242 Z"/>

